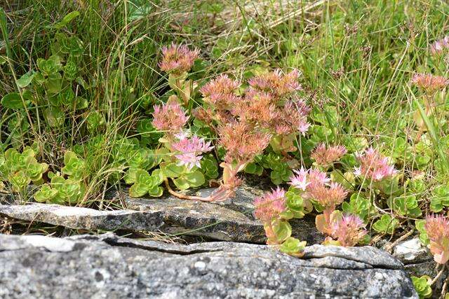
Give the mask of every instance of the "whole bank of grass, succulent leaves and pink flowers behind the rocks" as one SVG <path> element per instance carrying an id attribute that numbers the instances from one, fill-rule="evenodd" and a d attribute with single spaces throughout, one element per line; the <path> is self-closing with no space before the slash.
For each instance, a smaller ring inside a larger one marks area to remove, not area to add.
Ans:
<path id="1" fill-rule="evenodd" d="M 444 270 L 444 1 L 56 2 L 0 13 L 1 192 L 216 202 L 260 176 L 268 244 L 300 256 L 288 220 L 315 213 L 328 244 L 418 232 Z"/>

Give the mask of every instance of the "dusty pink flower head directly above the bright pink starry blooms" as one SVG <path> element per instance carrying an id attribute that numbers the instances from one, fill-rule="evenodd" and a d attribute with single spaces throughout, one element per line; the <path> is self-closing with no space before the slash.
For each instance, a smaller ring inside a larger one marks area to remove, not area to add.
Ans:
<path id="1" fill-rule="evenodd" d="M 181 105 L 176 101 L 169 101 L 162 106 L 154 105 L 153 125 L 156 129 L 175 134 L 180 132 L 189 118 L 185 115 Z"/>

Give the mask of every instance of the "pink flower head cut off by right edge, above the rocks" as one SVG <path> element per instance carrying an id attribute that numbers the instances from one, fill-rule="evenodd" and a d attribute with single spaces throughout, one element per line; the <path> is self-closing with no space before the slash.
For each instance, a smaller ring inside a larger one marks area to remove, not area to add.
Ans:
<path id="1" fill-rule="evenodd" d="M 445 264 L 449 260 L 449 219 L 443 215 L 427 216 L 424 228 L 430 239 L 430 251 L 434 260 Z"/>

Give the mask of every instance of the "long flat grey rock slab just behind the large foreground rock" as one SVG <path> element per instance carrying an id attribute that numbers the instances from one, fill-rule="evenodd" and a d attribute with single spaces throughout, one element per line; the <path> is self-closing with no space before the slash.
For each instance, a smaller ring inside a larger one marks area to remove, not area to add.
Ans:
<path id="1" fill-rule="evenodd" d="M 202 195 L 211 189 L 201 190 Z M 0 214 L 25 221 L 41 221 L 83 230 L 149 230 L 185 234 L 209 239 L 264 243 L 262 223 L 253 217 L 253 199 L 262 191 L 239 188 L 236 198 L 222 203 L 180 200 L 176 197 L 132 198 L 126 192 L 109 193 L 121 197 L 127 208 L 98 211 L 58 204 L 0 204 Z M 316 244 L 323 236 L 313 218 L 291 221 L 293 235 Z"/>

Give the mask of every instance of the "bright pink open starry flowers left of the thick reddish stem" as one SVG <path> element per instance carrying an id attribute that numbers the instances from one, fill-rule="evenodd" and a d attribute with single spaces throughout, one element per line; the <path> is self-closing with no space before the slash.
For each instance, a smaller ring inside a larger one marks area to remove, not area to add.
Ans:
<path id="1" fill-rule="evenodd" d="M 180 152 L 175 155 L 179 164 L 186 165 L 188 169 L 192 169 L 194 166 L 201 168 L 200 161 L 203 158 L 201 154 L 213 149 L 213 146 L 210 146 L 210 141 L 206 142 L 203 138 L 196 136 L 191 139 L 181 139 L 172 144 L 172 147 L 175 151 Z"/>

